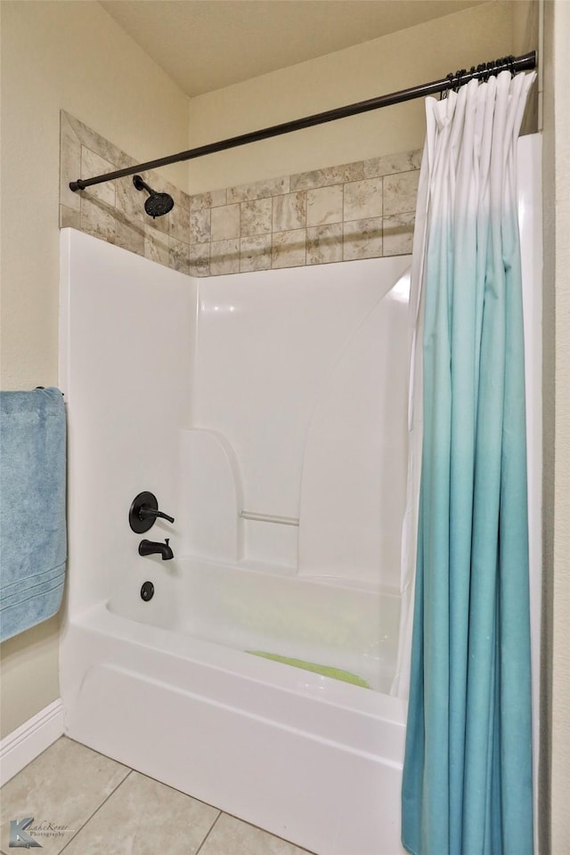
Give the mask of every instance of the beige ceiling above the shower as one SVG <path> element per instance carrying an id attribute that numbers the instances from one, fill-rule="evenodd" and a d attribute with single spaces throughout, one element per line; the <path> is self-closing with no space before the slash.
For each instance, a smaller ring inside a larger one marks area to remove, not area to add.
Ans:
<path id="1" fill-rule="evenodd" d="M 100 0 L 190 97 L 485 0 Z"/>

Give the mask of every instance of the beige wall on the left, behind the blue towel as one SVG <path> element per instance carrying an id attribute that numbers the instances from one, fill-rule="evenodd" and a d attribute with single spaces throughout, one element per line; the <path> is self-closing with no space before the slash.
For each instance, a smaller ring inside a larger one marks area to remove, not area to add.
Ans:
<path id="1" fill-rule="evenodd" d="M 188 99 L 91 2 L 3 3 L 3 389 L 57 383 L 59 126 L 68 110 L 135 158 L 188 146 Z M 164 175 L 187 189 L 186 164 Z M 59 696 L 57 618 L 4 642 L 1 735 Z"/>

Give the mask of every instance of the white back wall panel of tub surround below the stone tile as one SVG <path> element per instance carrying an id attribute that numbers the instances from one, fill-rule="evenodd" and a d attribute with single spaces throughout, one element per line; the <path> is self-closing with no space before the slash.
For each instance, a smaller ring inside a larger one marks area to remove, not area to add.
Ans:
<path id="1" fill-rule="evenodd" d="M 184 554 L 399 588 L 407 293 L 391 288 L 408 265 L 390 258 L 199 283 Z M 388 482 L 383 496 L 378 485 Z M 242 517 L 237 551 L 214 551 L 242 509 L 300 517 L 298 530 Z"/>

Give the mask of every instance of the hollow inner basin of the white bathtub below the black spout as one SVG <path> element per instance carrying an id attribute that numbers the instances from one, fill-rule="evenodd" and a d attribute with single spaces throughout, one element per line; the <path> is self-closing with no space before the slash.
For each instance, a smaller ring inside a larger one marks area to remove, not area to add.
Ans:
<path id="1" fill-rule="evenodd" d="M 152 599 L 140 590 L 151 582 Z M 354 674 L 389 693 L 399 592 L 283 568 L 149 558 L 123 577 L 110 611 L 234 650 L 258 651 Z"/>

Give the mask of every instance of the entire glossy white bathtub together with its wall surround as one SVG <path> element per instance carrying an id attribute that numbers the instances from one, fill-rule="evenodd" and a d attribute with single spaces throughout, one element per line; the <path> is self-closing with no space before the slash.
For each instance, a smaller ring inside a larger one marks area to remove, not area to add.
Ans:
<path id="1" fill-rule="evenodd" d="M 319 855 L 403 851 L 409 261 L 196 281 L 61 232 L 66 733 Z M 130 530 L 144 490 L 174 525 Z"/>

